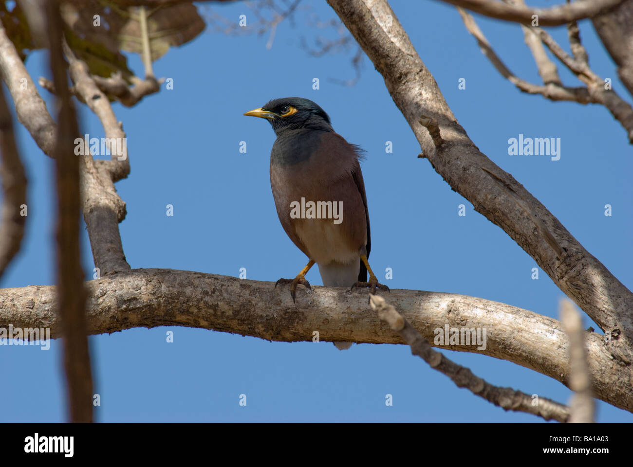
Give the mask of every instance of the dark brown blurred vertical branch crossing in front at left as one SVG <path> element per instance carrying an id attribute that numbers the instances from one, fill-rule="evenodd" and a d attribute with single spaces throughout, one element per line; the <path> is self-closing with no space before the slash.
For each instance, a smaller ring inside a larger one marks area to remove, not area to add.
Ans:
<path id="1" fill-rule="evenodd" d="M 79 134 L 66 62 L 61 49 L 62 29 L 56 1 L 46 4 L 47 34 L 53 82 L 58 89 L 58 132 L 54 149 L 58 196 L 57 262 L 58 313 L 64 343 L 64 366 L 68 382 L 70 420 L 92 421 L 92 371 L 85 323 L 84 271 L 79 245 L 79 158 L 73 151 Z"/>

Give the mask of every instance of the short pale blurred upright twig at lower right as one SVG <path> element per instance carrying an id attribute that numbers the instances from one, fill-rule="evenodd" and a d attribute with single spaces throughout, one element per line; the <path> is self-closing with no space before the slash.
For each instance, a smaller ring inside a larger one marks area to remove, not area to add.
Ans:
<path id="1" fill-rule="evenodd" d="M 560 317 L 563 329 L 569 339 L 569 359 L 571 364 L 569 388 L 575 392 L 570 401 L 570 423 L 593 423 L 595 404 L 591 390 L 591 371 L 587 363 L 585 333 L 582 318 L 567 299 L 560 302 Z"/>

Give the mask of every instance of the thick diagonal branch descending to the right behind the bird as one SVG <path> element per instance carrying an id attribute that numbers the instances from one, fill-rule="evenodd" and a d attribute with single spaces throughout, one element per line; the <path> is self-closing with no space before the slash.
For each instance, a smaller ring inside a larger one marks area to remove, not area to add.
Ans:
<path id="1" fill-rule="evenodd" d="M 472 202 L 476 211 L 503 228 L 606 333 L 617 337 L 608 343 L 608 349 L 617 361 L 629 366 L 633 342 L 630 290 L 523 185 L 480 153 L 457 123 L 385 0 L 328 1 L 384 77 L 394 103 L 437 173 Z M 427 128 L 420 125 L 422 115 L 436 118 L 441 146 L 434 146 Z M 549 236 L 544 237 L 543 231 Z M 561 258 L 551 240 L 560 247 Z"/>

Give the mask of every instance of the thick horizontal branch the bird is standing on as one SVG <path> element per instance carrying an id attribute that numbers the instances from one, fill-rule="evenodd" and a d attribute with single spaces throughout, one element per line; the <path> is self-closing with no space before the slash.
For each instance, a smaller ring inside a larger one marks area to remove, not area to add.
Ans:
<path id="1" fill-rule="evenodd" d="M 86 283 L 90 334 L 157 326 L 185 326 L 251 335 L 266 340 L 320 340 L 403 344 L 368 308 L 367 292 L 315 287 L 288 290 L 272 282 L 167 269 L 132 270 Z M 0 289 L 0 327 L 51 328 L 60 337 L 55 288 Z M 459 294 L 391 290 L 389 301 L 430 342 L 437 329 L 486 328 L 486 349 L 442 348 L 505 359 L 568 385 L 568 337 L 561 323 L 499 302 Z M 633 411 L 631 366 L 611 357 L 602 335 L 585 332 L 596 397 Z"/>

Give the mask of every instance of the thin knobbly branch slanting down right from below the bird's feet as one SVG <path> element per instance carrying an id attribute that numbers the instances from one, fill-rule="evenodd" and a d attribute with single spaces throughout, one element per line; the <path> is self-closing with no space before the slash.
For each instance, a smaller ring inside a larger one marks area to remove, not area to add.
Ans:
<path id="1" fill-rule="evenodd" d="M 378 313 L 380 320 L 385 321 L 398 332 L 404 342 L 411 346 L 411 353 L 422 358 L 431 368 L 441 371 L 448 376 L 458 387 L 465 387 L 475 395 L 479 395 L 488 402 L 503 408 L 505 411 L 531 413 L 545 420 L 556 420 L 565 423 L 569 418 L 569 409 L 563 404 L 552 401 L 546 397 L 536 400 L 531 395 L 525 394 L 510 387 L 498 387 L 476 377 L 470 368 L 454 363 L 441 352 L 434 351 L 428 340 L 424 339 L 411 323 L 404 318 L 394 306 L 388 304 L 384 298 L 377 295 L 369 296 L 370 306 Z"/>

